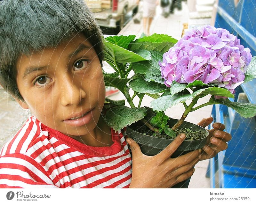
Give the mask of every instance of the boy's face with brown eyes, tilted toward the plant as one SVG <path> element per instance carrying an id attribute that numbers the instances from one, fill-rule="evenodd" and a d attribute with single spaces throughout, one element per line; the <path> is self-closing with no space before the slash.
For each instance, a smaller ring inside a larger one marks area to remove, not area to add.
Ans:
<path id="1" fill-rule="evenodd" d="M 84 35 L 59 46 L 21 55 L 16 63 L 19 101 L 46 126 L 69 136 L 86 135 L 105 101 L 99 58 Z"/>

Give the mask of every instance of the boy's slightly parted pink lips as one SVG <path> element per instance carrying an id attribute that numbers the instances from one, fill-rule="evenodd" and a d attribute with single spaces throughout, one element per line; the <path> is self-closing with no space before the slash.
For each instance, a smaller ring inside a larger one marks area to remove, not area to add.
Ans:
<path id="1" fill-rule="evenodd" d="M 89 123 L 92 120 L 92 113 L 94 112 L 95 107 L 89 111 L 72 114 L 67 120 L 63 120 L 66 124 L 71 126 L 83 126 Z"/>

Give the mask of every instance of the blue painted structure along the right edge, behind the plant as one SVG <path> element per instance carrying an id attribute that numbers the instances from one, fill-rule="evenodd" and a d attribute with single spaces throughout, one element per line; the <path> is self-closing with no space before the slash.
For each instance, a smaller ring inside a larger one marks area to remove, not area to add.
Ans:
<path id="1" fill-rule="evenodd" d="M 215 27 L 236 35 L 244 47 L 256 56 L 256 1 L 219 0 Z M 255 30 L 254 30 L 255 29 Z M 231 100 L 231 99 L 230 99 Z M 256 81 L 237 87 L 234 101 L 256 103 Z M 224 123 L 232 135 L 228 149 L 210 160 L 206 176 L 211 187 L 256 188 L 256 117 L 242 118 L 231 108 L 214 105 L 214 122 Z"/>

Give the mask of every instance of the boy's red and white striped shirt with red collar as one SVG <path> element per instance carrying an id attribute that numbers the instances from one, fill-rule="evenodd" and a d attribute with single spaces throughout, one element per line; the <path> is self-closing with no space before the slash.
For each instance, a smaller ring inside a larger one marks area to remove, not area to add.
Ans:
<path id="1" fill-rule="evenodd" d="M 119 130 L 87 146 L 30 117 L 0 152 L 0 188 L 128 188 L 132 160 Z"/>

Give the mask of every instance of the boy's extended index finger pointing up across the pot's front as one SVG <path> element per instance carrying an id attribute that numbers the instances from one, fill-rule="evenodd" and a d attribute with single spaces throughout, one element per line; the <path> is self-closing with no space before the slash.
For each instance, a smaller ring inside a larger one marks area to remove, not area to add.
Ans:
<path id="1" fill-rule="evenodd" d="M 158 161 L 161 163 L 167 158 L 170 158 L 176 149 L 178 149 L 180 144 L 184 141 L 185 137 L 186 135 L 184 133 L 178 135 L 174 141 L 172 141 L 163 151 L 156 155 L 156 157 L 158 157 Z"/>

